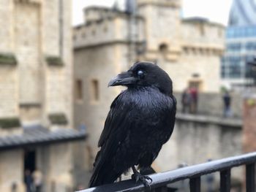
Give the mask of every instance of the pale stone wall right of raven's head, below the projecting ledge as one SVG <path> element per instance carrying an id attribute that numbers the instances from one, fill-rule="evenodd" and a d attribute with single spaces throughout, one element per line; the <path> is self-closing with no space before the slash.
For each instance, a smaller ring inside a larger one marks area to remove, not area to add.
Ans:
<path id="1" fill-rule="evenodd" d="M 219 92 L 218 55 L 183 53 L 179 61 L 176 62 L 159 60 L 159 66 L 162 66 L 170 75 L 174 91 L 184 91 L 189 86 L 189 82 L 199 82 L 201 92 Z"/>

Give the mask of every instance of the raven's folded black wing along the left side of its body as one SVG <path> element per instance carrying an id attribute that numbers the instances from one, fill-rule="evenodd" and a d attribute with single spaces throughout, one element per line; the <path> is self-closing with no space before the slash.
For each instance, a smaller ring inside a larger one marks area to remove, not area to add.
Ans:
<path id="1" fill-rule="evenodd" d="M 118 145 L 127 137 L 131 127 L 127 116 L 130 114 L 132 107 L 121 101 L 121 94 L 111 104 L 110 112 L 105 120 L 105 126 L 98 143 L 101 149 L 95 158 L 94 172 L 89 187 L 113 183 L 122 174 L 121 171 L 114 170 L 112 161 Z"/>

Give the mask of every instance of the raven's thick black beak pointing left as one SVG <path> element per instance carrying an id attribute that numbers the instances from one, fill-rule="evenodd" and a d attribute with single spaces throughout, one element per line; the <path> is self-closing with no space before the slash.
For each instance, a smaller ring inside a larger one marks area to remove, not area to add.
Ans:
<path id="1" fill-rule="evenodd" d="M 132 77 L 129 72 L 123 72 L 110 80 L 110 82 L 108 82 L 108 87 L 117 85 L 132 85 L 135 84 L 136 81 L 136 78 Z"/>

